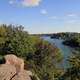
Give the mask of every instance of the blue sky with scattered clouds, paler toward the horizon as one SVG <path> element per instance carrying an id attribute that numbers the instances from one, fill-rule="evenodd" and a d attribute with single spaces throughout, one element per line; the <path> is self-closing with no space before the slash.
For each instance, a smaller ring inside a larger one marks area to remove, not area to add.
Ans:
<path id="1" fill-rule="evenodd" d="M 0 0 L 0 24 L 29 33 L 80 32 L 80 0 Z"/>

